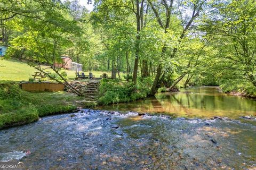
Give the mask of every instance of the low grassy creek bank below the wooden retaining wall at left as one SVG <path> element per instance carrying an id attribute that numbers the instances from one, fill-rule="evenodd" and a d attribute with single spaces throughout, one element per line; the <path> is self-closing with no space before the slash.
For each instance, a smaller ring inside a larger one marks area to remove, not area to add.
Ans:
<path id="1" fill-rule="evenodd" d="M 0 83 L 0 129 L 74 111 L 76 100 L 76 95 L 67 92 L 28 92 L 15 82 Z"/>

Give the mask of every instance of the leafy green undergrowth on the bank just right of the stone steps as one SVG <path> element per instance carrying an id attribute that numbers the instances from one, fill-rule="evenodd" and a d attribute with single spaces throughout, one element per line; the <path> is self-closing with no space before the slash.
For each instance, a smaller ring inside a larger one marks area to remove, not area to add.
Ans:
<path id="1" fill-rule="evenodd" d="M 146 98 L 152 84 L 152 78 L 138 79 L 137 84 L 118 79 L 102 79 L 99 87 L 98 103 L 99 105 L 108 105 Z"/>

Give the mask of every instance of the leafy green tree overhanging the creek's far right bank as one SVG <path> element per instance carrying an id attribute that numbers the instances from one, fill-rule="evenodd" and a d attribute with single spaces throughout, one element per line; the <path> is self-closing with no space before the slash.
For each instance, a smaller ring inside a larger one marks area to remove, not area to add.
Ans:
<path id="1" fill-rule="evenodd" d="M 221 84 L 233 88 L 246 83 L 256 87 L 256 2 L 251 0 L 216 1 L 212 15 L 207 16 L 203 31 L 214 37 L 215 69 L 221 73 Z M 233 82 L 233 83 L 229 83 Z"/>

